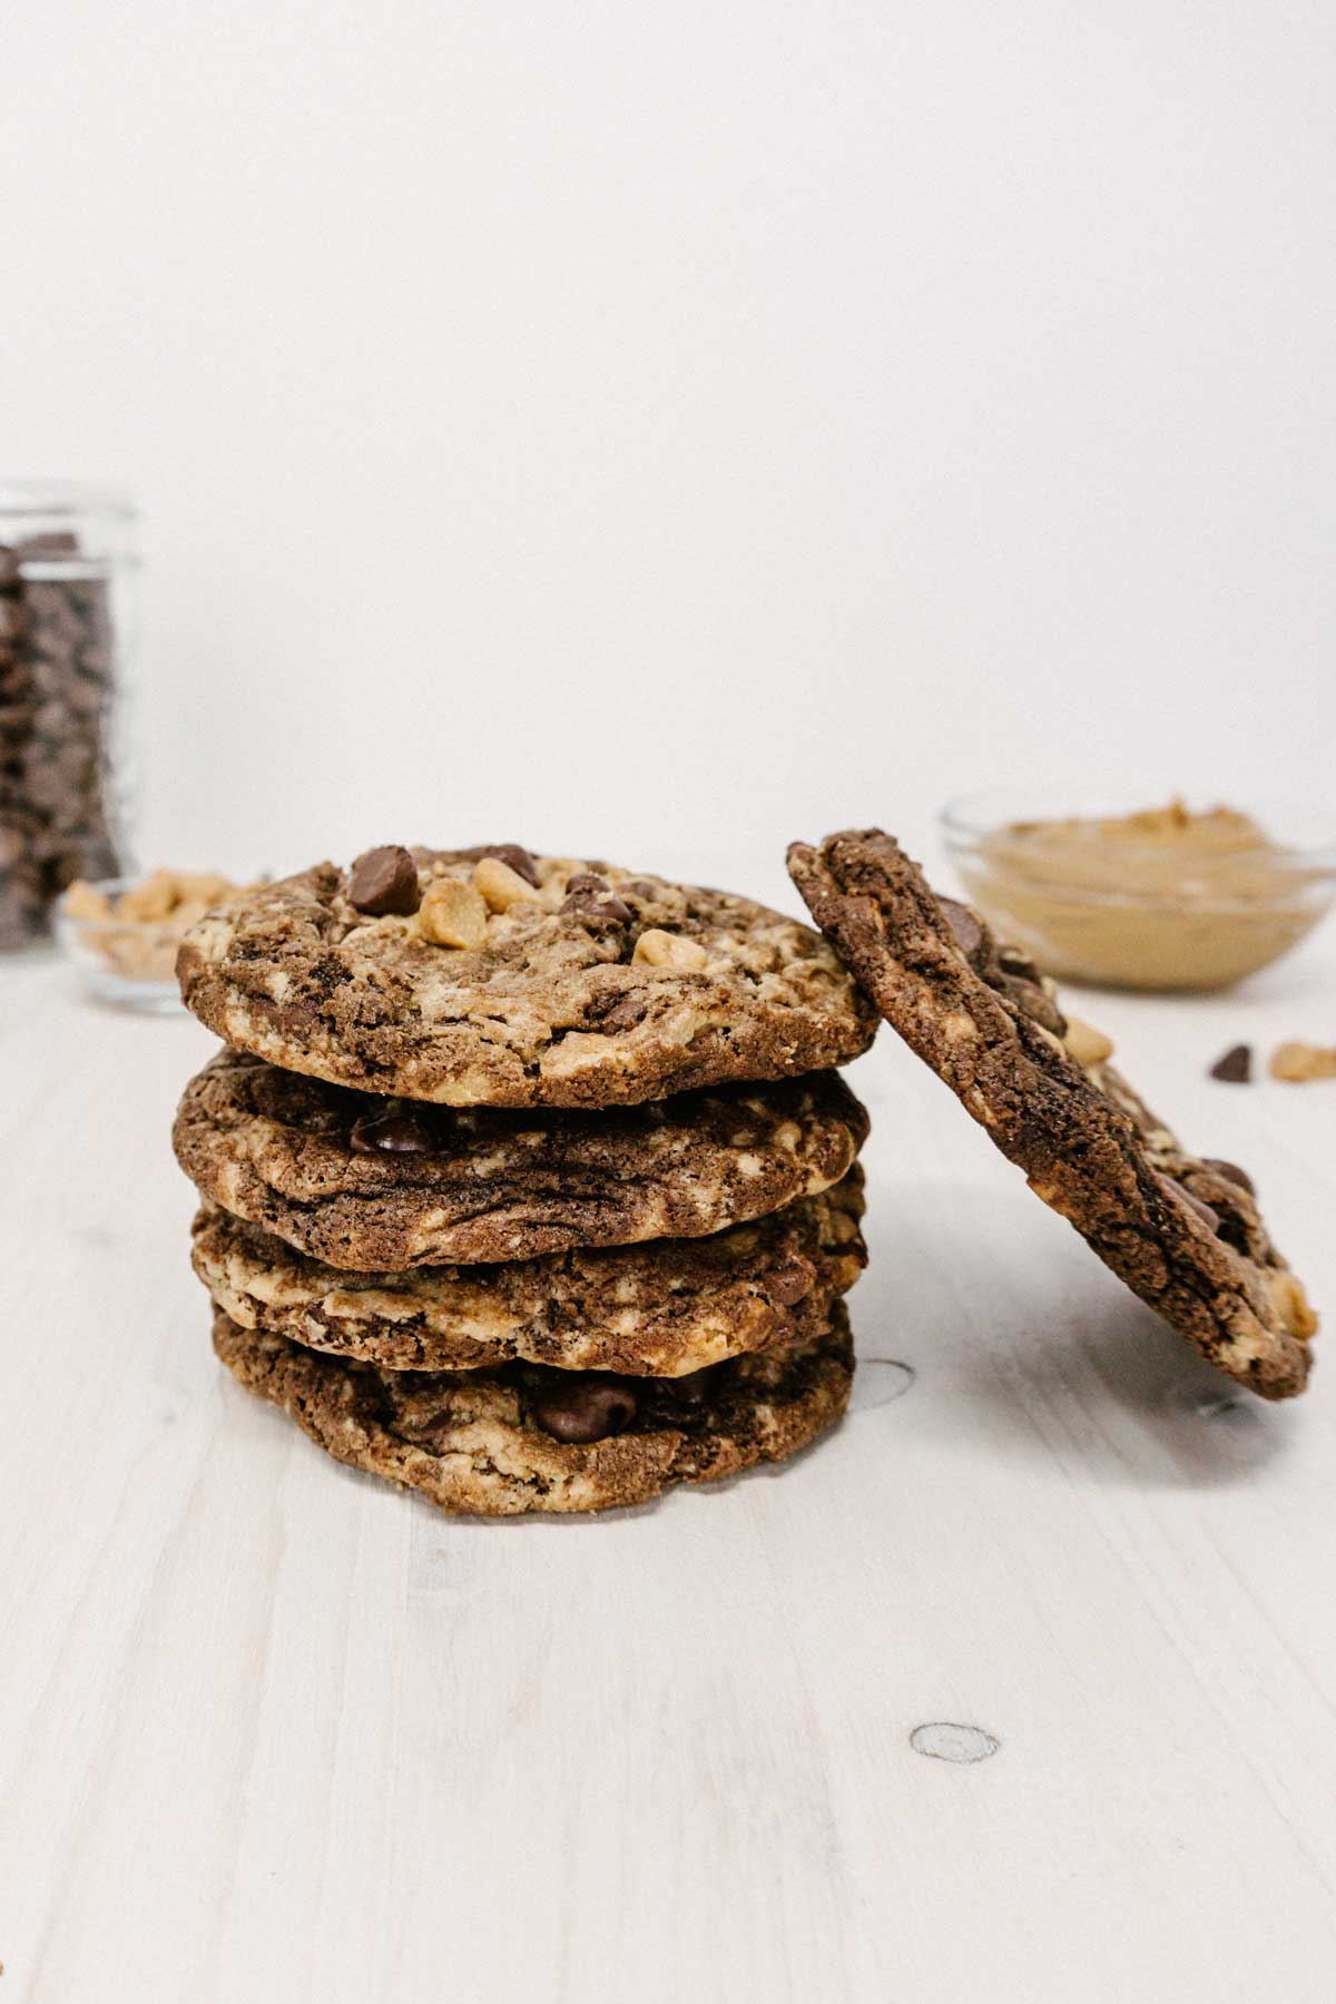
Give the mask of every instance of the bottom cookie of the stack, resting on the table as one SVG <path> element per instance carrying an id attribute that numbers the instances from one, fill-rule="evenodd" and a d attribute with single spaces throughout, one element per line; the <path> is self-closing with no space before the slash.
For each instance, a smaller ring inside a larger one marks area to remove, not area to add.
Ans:
<path id="1" fill-rule="evenodd" d="M 853 1381 L 843 1303 L 819 1337 L 679 1379 L 543 1365 L 383 1371 L 220 1311 L 214 1349 L 337 1461 L 479 1517 L 615 1509 L 783 1461 L 833 1427 Z"/>

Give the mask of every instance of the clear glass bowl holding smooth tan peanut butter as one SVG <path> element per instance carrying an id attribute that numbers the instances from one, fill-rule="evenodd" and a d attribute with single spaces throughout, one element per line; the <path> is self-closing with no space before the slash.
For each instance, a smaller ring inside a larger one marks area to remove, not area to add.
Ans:
<path id="1" fill-rule="evenodd" d="M 1052 826 L 1146 812 L 1144 796 L 995 790 L 949 802 L 941 832 L 999 940 L 1100 988 L 1230 988 L 1298 946 L 1336 898 L 1336 826 L 1292 802 L 1242 802 L 1266 840 L 1238 848 Z"/>

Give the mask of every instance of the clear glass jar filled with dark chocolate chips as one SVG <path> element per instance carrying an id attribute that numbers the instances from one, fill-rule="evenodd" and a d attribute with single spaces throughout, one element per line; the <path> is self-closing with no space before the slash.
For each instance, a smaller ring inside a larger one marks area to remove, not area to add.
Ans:
<path id="1" fill-rule="evenodd" d="M 124 864 L 134 531 L 122 495 L 0 481 L 0 948 Z"/>

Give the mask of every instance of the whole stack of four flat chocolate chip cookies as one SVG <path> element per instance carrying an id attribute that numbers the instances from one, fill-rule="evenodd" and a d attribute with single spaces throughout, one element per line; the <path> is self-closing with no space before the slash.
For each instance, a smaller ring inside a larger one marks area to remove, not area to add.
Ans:
<path id="1" fill-rule="evenodd" d="M 180 950 L 214 1349 L 451 1511 L 591 1511 L 841 1415 L 875 1010 L 827 942 L 607 864 L 379 848 Z"/>

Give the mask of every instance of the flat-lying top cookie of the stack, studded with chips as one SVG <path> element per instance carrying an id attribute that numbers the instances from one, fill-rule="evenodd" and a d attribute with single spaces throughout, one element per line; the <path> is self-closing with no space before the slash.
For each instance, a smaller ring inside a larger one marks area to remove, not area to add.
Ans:
<path id="1" fill-rule="evenodd" d="M 787 1078 L 875 1012 L 797 920 L 609 864 L 373 850 L 226 900 L 176 960 L 242 1050 L 447 1106 L 615 1106 Z"/>

